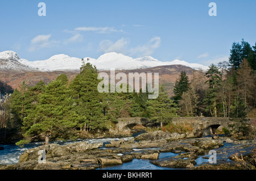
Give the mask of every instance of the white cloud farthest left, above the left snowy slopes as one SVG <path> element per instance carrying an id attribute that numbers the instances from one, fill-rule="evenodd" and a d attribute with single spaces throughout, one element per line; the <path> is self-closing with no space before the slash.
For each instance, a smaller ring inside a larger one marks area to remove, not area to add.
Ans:
<path id="1" fill-rule="evenodd" d="M 49 38 L 51 37 L 51 34 L 49 35 L 38 35 L 34 37 L 30 41 L 30 48 L 28 49 L 30 52 L 34 52 L 35 50 L 51 47 L 53 41 L 49 41 Z"/>

